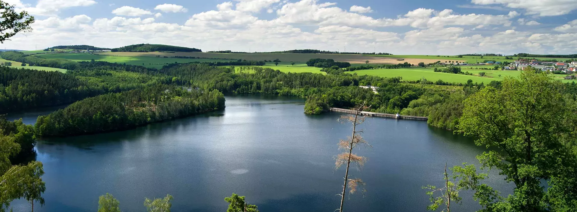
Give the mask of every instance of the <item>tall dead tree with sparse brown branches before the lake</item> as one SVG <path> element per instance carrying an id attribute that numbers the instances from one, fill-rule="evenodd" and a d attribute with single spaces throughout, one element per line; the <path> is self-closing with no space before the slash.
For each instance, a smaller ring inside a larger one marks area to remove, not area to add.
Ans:
<path id="1" fill-rule="evenodd" d="M 362 192 L 365 192 L 365 182 L 363 182 L 359 178 L 349 179 L 349 168 L 351 167 L 351 163 L 357 164 L 358 168 L 362 168 L 365 165 L 366 157 L 357 156 L 353 154 L 353 149 L 359 145 L 366 145 L 370 146 L 369 143 L 365 141 L 365 139 L 360 135 L 364 133 L 363 130 L 357 131 L 357 126 L 365 122 L 367 116 L 361 115 L 361 112 L 364 111 L 366 108 L 369 108 L 366 105 L 366 101 L 361 105 L 353 108 L 355 111 L 354 115 L 349 116 L 341 116 L 340 120 L 344 120 L 345 122 L 350 122 L 353 124 L 353 135 L 349 137 L 347 140 L 340 140 L 339 142 L 339 149 L 344 150 L 343 153 L 340 153 L 336 156 L 335 162 L 335 169 L 339 169 L 340 166 L 346 164 L 346 171 L 344 172 L 344 184 L 343 184 L 343 192 L 340 194 L 340 209 L 339 212 L 343 211 L 343 204 L 344 204 L 344 196 L 346 195 L 347 188 L 349 188 L 349 192 L 354 194 L 357 191 L 357 187 L 361 185 Z M 335 210 L 336 211 L 336 210 Z"/>

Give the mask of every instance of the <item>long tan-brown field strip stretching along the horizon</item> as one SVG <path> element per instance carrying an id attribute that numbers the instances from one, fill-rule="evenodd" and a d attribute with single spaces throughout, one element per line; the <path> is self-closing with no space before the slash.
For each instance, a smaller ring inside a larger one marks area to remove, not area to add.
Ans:
<path id="1" fill-rule="evenodd" d="M 223 54 L 208 52 L 100 52 L 99 55 L 106 56 L 194 56 L 200 58 L 220 58 L 220 59 L 246 59 L 246 60 L 275 60 L 280 59 L 282 62 L 306 62 L 313 58 L 334 59 L 339 62 L 350 63 L 388 63 L 397 64 L 408 62 L 414 65 L 424 62 L 425 64 L 437 62 L 437 59 L 414 59 L 414 58 L 387 58 L 385 56 L 370 55 L 347 55 L 347 54 Z M 404 60 L 397 60 L 404 59 Z"/>

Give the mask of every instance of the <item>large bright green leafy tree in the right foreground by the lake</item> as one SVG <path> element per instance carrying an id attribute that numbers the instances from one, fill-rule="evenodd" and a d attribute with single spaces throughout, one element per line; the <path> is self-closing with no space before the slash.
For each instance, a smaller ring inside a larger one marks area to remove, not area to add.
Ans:
<path id="1" fill-rule="evenodd" d="M 561 95 L 552 77 L 527 69 L 519 79 L 505 78 L 502 89 L 485 87 L 464 101 L 459 132 L 490 148 L 477 157 L 482 168 L 498 169 L 512 181 L 502 198 L 479 184 L 474 171 L 461 172 L 466 188 L 488 211 L 575 209 L 576 156 L 567 148 L 575 139 L 575 107 Z M 482 178 L 482 177 L 481 177 Z M 547 181 L 549 188 L 541 186 Z"/>

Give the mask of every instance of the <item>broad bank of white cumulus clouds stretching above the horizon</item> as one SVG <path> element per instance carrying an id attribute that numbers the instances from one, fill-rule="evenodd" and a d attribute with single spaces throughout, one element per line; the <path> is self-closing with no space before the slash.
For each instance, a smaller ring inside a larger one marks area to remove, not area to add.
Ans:
<path id="1" fill-rule="evenodd" d="M 31 7 L 18 0 L 7 1 L 20 3 L 19 8 Z M 106 47 L 163 43 L 203 50 L 226 45 L 228 49 L 238 51 L 248 51 L 247 46 L 253 46 L 254 51 L 285 50 L 287 46 L 336 51 L 344 44 L 347 51 L 370 52 L 376 47 L 393 54 L 449 55 L 469 52 L 561 54 L 577 48 L 577 20 L 557 28 L 539 26 L 539 29 L 549 29 L 549 33 L 534 33 L 535 27 L 512 29 L 512 22 L 524 26 L 539 22 L 531 17 L 519 18 L 520 14 L 509 7 L 494 15 L 419 8 L 394 14 L 398 15 L 395 18 L 382 18 L 379 14 L 366 16 L 364 12 L 370 11 L 370 7 L 340 8 L 335 3 L 317 0 L 231 0 L 216 5 L 214 10 L 192 14 L 185 24 L 156 22 L 155 18 L 164 13 L 184 9 L 166 5 L 156 6 L 155 12 L 119 7 L 114 13 L 117 17 L 96 20 L 86 15 L 40 17 L 33 25 L 33 32 L 26 37 L 17 35 L 6 41 L 5 46 L 29 49 L 33 48 L 33 43 L 58 46 L 62 40 L 69 40 L 96 46 L 106 43 Z M 57 14 L 65 6 L 52 8 L 50 10 Z M 276 17 L 260 19 L 260 12 L 276 12 Z M 140 17 L 145 15 L 148 17 Z M 554 31 L 550 30 L 553 28 Z"/>

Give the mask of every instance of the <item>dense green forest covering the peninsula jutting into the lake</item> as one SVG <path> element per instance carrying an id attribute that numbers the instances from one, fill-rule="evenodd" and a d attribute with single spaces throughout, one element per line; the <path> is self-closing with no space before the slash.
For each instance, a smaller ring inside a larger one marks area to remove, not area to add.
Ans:
<path id="1" fill-rule="evenodd" d="M 77 101 L 39 116 L 35 129 L 42 137 L 103 133 L 215 109 L 224 109 L 224 95 L 218 90 L 158 84 Z"/>

